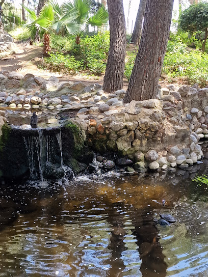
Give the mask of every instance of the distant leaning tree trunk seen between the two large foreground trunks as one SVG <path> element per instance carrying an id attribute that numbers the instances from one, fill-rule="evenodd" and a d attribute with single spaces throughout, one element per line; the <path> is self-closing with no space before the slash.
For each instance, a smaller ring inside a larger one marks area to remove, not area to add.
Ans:
<path id="1" fill-rule="evenodd" d="M 132 34 L 132 42 L 134 42 L 134 44 L 136 45 L 139 45 L 140 38 L 142 35 L 142 22 L 144 18 L 146 3 L 147 3 L 147 0 L 140 0 L 137 18 L 134 26 L 134 31 Z"/>

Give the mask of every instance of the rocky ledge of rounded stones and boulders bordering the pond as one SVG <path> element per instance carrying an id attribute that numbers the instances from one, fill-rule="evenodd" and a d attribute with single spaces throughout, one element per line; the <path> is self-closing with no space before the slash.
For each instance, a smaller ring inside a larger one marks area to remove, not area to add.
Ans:
<path id="1" fill-rule="evenodd" d="M 208 139 L 208 87 L 159 87 L 158 99 L 131 103 L 123 103 L 124 95 L 124 90 L 106 93 L 99 84 L 3 70 L 0 126 L 8 108 L 55 109 L 60 115 L 72 110 L 70 120 L 85 131 L 88 147 L 106 169 L 116 163 L 129 172 L 171 170 L 201 159 L 200 139 Z M 111 152 L 119 158 L 106 158 Z"/>

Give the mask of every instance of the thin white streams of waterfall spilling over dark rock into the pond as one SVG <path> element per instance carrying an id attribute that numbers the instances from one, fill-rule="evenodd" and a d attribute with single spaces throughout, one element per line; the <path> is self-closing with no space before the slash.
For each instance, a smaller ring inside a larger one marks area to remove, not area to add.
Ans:
<path id="1" fill-rule="evenodd" d="M 28 154 L 32 181 L 40 180 L 42 183 L 44 179 L 50 179 L 48 176 L 54 175 L 55 171 L 57 171 L 57 176 L 63 177 L 64 182 L 74 178 L 72 170 L 63 162 L 61 131 L 45 134 L 43 129 L 37 129 L 35 132 L 24 135 L 23 140 Z"/>

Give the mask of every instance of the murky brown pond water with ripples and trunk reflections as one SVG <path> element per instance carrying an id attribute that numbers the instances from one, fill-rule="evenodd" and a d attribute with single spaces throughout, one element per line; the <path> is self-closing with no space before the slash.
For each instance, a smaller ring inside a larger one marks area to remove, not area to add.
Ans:
<path id="1" fill-rule="evenodd" d="M 207 171 L 1 185 L 0 276 L 208 276 Z"/>

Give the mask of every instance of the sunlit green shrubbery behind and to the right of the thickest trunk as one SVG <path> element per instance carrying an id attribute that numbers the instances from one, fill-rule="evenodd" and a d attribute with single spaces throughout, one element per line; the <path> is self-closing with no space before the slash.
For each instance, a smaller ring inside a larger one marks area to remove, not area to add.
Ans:
<path id="1" fill-rule="evenodd" d="M 125 63 L 124 76 L 129 80 L 136 53 L 128 53 Z M 169 41 L 165 55 L 162 75 L 168 81 L 184 80 L 191 85 L 198 83 L 200 86 L 208 84 L 208 54 L 199 50 L 188 50 L 187 45 L 180 40 Z"/>

